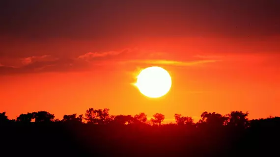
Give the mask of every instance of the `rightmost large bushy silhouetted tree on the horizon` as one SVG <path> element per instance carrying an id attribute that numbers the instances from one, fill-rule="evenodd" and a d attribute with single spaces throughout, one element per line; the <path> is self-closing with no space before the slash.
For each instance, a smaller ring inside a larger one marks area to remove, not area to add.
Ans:
<path id="1" fill-rule="evenodd" d="M 242 111 L 232 111 L 227 115 L 229 117 L 227 125 L 247 128 L 249 125 L 248 115 L 248 112 L 243 113 Z"/>

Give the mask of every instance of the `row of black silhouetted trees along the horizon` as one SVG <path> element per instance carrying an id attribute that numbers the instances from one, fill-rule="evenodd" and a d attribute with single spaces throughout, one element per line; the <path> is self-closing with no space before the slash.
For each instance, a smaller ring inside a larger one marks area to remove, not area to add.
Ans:
<path id="1" fill-rule="evenodd" d="M 70 114 L 64 115 L 63 119 L 55 119 L 55 115 L 47 111 L 28 112 L 20 114 L 16 119 L 8 119 L 6 112 L 0 113 L 0 123 L 7 122 L 21 122 L 21 123 L 41 123 L 41 122 L 56 122 L 56 123 L 71 123 L 71 124 L 94 124 L 94 125 L 149 125 L 149 126 L 161 126 L 165 119 L 165 115 L 161 113 L 155 113 L 153 118 L 147 118 L 147 115 L 143 112 L 140 114 L 132 115 L 110 115 L 110 109 L 94 109 L 89 108 L 85 114 L 77 115 Z M 194 123 L 194 119 L 188 116 L 182 116 L 181 114 L 174 114 L 176 123 L 169 123 L 172 125 L 179 126 L 193 126 L 193 127 L 219 127 L 219 126 L 230 126 L 238 128 L 248 128 L 254 125 L 254 122 L 263 120 L 280 120 L 280 117 L 270 117 L 267 119 L 249 120 L 249 113 L 242 111 L 231 111 L 229 114 L 222 115 L 216 112 L 203 112 L 200 115 L 200 120 Z"/>

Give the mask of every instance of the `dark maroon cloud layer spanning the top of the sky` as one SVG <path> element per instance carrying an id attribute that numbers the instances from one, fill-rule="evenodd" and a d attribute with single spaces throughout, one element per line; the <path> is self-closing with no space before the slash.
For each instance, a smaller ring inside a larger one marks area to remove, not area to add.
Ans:
<path id="1" fill-rule="evenodd" d="M 65 37 L 280 34 L 279 0 L 1 0 L 0 34 Z"/>

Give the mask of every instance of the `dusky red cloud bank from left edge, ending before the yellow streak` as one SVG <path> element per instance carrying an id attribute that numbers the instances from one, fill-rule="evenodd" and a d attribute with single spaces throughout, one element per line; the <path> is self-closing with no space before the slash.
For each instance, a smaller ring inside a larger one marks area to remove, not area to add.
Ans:
<path id="1" fill-rule="evenodd" d="M 132 52 L 131 49 L 125 49 L 123 51 L 111 52 L 88 52 L 75 58 L 69 58 L 67 56 L 57 58 L 50 55 L 14 58 L 15 66 L 0 64 L 0 75 L 88 71 L 98 67 L 100 63 L 104 61 L 114 62 L 117 59 L 126 59 L 123 58 L 123 56 L 128 55 L 130 52 Z M 19 61 L 21 62 L 20 65 L 17 64 Z"/>

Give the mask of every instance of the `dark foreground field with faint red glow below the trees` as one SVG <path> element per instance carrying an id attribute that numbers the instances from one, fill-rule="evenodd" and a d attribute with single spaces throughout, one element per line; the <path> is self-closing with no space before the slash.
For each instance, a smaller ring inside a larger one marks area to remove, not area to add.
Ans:
<path id="1" fill-rule="evenodd" d="M 231 127 L 8 123 L 0 156 L 253 157 L 279 156 L 279 123 Z"/>

